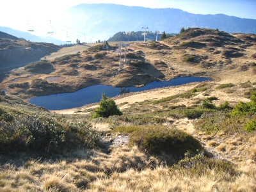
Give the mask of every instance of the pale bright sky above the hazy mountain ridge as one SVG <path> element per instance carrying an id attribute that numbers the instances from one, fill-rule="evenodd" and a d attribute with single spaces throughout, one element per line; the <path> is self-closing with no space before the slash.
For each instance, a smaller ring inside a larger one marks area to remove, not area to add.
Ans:
<path id="1" fill-rule="evenodd" d="M 0 26 L 28 30 L 28 22 L 40 18 L 47 22 L 60 12 L 81 3 L 113 3 L 147 8 L 179 8 L 196 14 L 218 14 L 256 19 L 256 0 L 2 0 L 0 1 Z M 35 34 L 40 35 L 40 34 Z"/>

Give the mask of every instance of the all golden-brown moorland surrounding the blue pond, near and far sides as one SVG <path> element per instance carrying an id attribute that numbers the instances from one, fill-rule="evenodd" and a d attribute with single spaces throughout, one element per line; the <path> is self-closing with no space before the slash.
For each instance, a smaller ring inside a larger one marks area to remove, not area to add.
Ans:
<path id="1" fill-rule="evenodd" d="M 0 93 L 1 191 L 255 191 L 255 42 L 250 34 L 186 29 L 132 44 L 121 71 L 114 50 L 102 45 L 13 70 Z M 214 81 L 103 97 L 70 114 L 23 100 L 91 81 L 177 76 Z M 122 114 L 95 115 L 107 100 Z"/>

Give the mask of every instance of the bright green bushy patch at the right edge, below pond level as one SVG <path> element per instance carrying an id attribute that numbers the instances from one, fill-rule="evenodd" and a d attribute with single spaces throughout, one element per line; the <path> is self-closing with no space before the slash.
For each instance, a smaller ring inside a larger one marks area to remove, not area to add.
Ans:
<path id="1" fill-rule="evenodd" d="M 251 102 L 239 102 L 234 108 L 228 102 L 216 108 L 218 111 L 201 116 L 195 128 L 207 133 L 224 131 L 229 134 L 235 132 L 252 132 L 256 130 L 256 93 L 252 93 Z"/>

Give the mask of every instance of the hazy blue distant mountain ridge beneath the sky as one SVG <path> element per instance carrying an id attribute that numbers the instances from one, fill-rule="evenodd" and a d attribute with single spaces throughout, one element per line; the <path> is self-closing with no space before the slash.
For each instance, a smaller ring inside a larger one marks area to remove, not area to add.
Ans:
<path id="1" fill-rule="evenodd" d="M 175 8 L 144 8 L 120 4 L 79 4 L 66 10 L 58 22 L 83 31 L 93 38 L 108 39 L 118 31 L 179 33 L 184 28 L 219 29 L 227 33 L 256 33 L 255 19 L 241 19 L 223 14 L 201 15 Z M 90 38 L 90 37 L 89 37 Z"/>

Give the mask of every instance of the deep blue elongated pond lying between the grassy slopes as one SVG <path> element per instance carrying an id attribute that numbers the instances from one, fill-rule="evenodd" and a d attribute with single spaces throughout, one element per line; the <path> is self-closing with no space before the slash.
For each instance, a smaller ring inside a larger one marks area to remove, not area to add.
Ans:
<path id="1" fill-rule="evenodd" d="M 79 108 L 85 104 L 99 102 L 102 92 L 104 92 L 107 97 L 115 97 L 120 95 L 121 92 L 142 92 L 154 88 L 162 88 L 165 86 L 175 86 L 202 81 L 211 81 L 211 79 L 206 77 L 177 77 L 175 79 L 171 79 L 170 81 L 154 81 L 152 83 L 146 84 L 145 86 L 131 86 L 127 88 L 118 88 L 97 84 L 88 86 L 74 93 L 60 93 L 55 95 L 33 97 L 29 100 L 29 102 L 31 104 L 35 104 L 36 106 L 42 106 L 50 110 Z"/>

